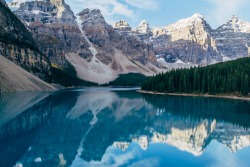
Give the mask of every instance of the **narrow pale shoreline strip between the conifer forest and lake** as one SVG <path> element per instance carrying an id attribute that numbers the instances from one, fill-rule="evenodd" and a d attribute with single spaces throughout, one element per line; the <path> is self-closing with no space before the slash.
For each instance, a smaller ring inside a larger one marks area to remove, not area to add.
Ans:
<path id="1" fill-rule="evenodd" d="M 208 94 L 187 94 L 187 93 L 161 93 L 161 92 L 152 92 L 137 90 L 137 92 L 143 94 L 152 94 L 152 95 L 167 95 L 167 96 L 185 96 L 185 97 L 211 97 L 211 98 L 220 98 L 220 99 L 232 99 L 232 100 L 242 100 L 250 101 L 250 97 L 239 97 L 239 96 L 230 96 L 230 95 L 208 95 Z"/>

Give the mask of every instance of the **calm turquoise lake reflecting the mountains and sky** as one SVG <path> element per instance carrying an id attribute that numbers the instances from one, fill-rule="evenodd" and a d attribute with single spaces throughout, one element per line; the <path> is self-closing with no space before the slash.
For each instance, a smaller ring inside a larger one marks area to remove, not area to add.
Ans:
<path id="1" fill-rule="evenodd" d="M 0 166 L 249 167 L 250 103 L 79 89 L 0 95 Z"/>

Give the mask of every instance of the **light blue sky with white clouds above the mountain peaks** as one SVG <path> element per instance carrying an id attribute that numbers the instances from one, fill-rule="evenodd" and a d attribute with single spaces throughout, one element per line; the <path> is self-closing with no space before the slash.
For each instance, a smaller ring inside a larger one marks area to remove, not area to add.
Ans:
<path id="1" fill-rule="evenodd" d="M 9 0 L 10 1 L 10 0 Z M 250 0 L 65 0 L 78 13 L 98 8 L 110 24 L 124 19 L 135 28 L 141 20 L 151 27 L 162 27 L 192 16 L 204 15 L 212 28 L 224 24 L 233 15 L 250 22 Z"/>

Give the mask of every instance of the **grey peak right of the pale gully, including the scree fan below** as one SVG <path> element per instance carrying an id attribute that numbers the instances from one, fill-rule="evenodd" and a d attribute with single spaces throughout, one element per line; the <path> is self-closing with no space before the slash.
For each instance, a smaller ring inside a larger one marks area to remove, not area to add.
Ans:
<path id="1" fill-rule="evenodd" d="M 67 57 L 81 79 L 107 83 L 121 73 L 152 75 L 159 70 L 155 66 L 157 62 L 152 46 L 133 36 L 117 33 L 106 23 L 100 10 L 83 10 L 77 14 L 77 22 L 92 53 Z"/>

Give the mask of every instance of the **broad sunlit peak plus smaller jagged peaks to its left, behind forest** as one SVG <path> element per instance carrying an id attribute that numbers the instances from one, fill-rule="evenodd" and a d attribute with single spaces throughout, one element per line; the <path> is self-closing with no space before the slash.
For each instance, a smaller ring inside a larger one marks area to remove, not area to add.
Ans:
<path id="1" fill-rule="evenodd" d="M 169 69 L 172 65 L 188 67 L 222 61 L 212 37 L 212 29 L 201 14 L 194 14 L 163 28 L 150 28 L 148 22 L 143 20 L 135 30 L 125 35 L 152 44 L 158 63 Z"/>

